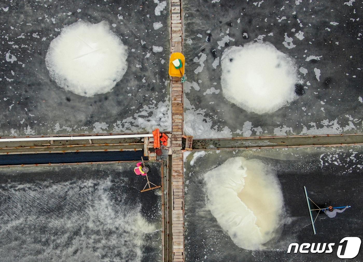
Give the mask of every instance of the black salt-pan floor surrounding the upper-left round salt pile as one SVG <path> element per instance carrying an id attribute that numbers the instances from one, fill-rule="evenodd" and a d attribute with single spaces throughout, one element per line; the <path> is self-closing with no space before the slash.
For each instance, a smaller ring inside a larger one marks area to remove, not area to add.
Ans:
<path id="1" fill-rule="evenodd" d="M 156 16 L 156 6 L 154 1 L 142 0 L 2 3 L 1 7 L 9 8 L 7 12 L 1 10 L 0 16 L 3 31 L 0 135 L 146 131 L 135 123 L 128 126 L 120 122 L 126 118 L 135 119 L 134 114 L 144 106 L 156 106 L 170 98 L 169 85 L 165 82 L 168 80 L 168 64 L 161 63 L 162 59 L 167 61 L 170 54 L 170 14 L 167 6 L 160 16 Z M 61 28 L 79 20 L 93 24 L 107 22 L 110 30 L 128 48 L 127 71 L 108 93 L 79 96 L 60 88 L 49 76 L 45 56 L 50 41 L 61 33 Z M 154 30 L 153 23 L 159 21 L 163 27 Z M 152 46 L 162 46 L 163 51 L 154 53 Z M 9 51 L 17 58 L 13 63 L 5 59 Z M 151 53 L 148 58 L 147 53 Z M 136 67 L 136 64 L 141 67 Z M 166 105 L 170 102 L 166 101 Z M 118 121 L 117 126 L 121 127 L 117 130 L 114 124 Z M 97 124 L 94 126 L 95 123 L 105 124 L 99 128 Z"/>

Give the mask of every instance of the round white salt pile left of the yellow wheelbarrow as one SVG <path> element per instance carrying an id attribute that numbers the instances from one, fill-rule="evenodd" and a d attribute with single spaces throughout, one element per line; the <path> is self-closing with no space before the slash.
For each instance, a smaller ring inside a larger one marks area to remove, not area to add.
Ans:
<path id="1" fill-rule="evenodd" d="M 45 62 L 62 88 L 80 96 L 111 91 L 127 69 L 127 47 L 106 22 L 76 22 L 50 42 Z"/>

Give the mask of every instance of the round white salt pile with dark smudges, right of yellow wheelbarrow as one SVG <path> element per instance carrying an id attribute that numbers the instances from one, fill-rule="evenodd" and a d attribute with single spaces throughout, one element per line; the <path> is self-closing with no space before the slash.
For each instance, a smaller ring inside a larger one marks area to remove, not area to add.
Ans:
<path id="1" fill-rule="evenodd" d="M 270 43 L 229 47 L 221 67 L 224 97 L 246 111 L 272 113 L 296 98 L 297 68 Z"/>

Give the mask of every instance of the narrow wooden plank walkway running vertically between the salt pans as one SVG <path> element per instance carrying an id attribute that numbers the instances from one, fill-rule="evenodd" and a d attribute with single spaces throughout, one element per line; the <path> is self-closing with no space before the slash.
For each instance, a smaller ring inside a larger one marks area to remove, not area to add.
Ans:
<path id="1" fill-rule="evenodd" d="M 182 52 L 180 0 L 171 0 L 171 53 Z M 183 137 L 183 84 L 180 77 L 171 78 L 172 110 L 172 241 L 173 261 L 184 261 L 184 175 L 181 139 Z"/>

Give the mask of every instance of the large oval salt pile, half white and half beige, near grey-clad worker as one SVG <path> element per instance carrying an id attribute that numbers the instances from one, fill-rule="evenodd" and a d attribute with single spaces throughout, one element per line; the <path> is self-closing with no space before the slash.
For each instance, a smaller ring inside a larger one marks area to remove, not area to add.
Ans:
<path id="1" fill-rule="evenodd" d="M 264 249 L 281 226 L 277 178 L 260 160 L 234 157 L 204 175 L 207 207 L 240 248 Z"/>

